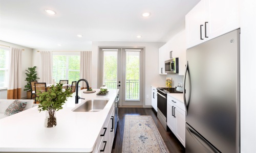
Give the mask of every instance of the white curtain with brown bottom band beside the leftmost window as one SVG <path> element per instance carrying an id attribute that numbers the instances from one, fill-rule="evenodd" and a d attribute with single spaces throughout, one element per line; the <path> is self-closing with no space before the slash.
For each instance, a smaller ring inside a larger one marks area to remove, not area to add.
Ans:
<path id="1" fill-rule="evenodd" d="M 22 98 L 22 49 L 11 48 L 9 53 L 7 99 Z"/>

